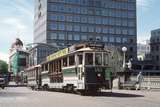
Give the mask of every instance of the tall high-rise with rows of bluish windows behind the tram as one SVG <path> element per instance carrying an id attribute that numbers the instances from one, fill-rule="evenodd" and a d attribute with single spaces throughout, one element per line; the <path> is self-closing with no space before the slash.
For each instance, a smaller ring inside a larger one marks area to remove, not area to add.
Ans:
<path id="1" fill-rule="evenodd" d="M 136 0 L 36 0 L 34 42 L 126 46 L 137 57 Z"/>

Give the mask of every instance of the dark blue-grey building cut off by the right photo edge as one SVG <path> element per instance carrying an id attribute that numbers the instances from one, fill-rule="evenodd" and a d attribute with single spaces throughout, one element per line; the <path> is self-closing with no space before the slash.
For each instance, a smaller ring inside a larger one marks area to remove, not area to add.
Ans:
<path id="1" fill-rule="evenodd" d="M 160 29 L 151 31 L 150 47 L 152 60 L 160 65 Z"/>

